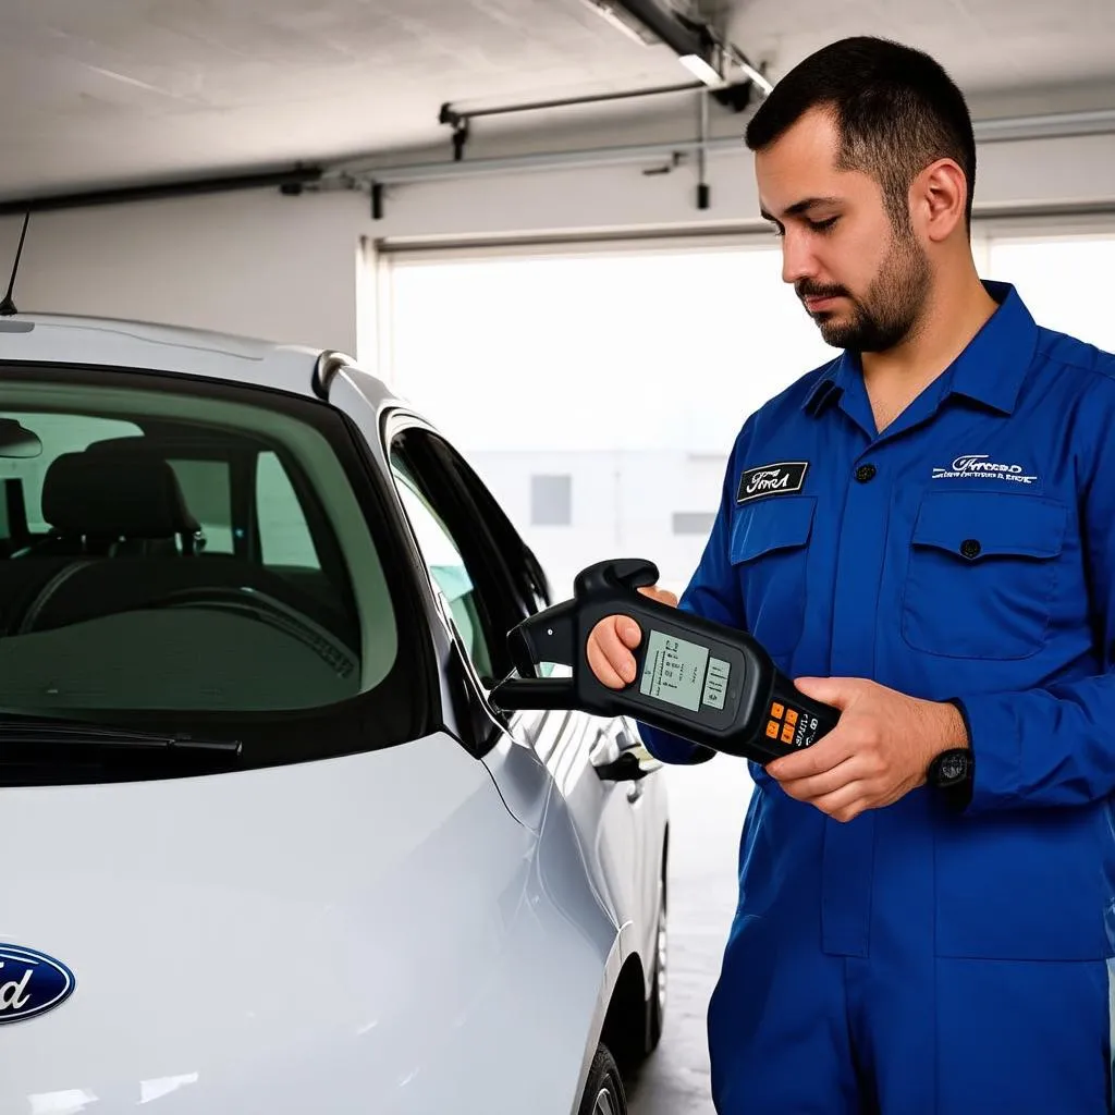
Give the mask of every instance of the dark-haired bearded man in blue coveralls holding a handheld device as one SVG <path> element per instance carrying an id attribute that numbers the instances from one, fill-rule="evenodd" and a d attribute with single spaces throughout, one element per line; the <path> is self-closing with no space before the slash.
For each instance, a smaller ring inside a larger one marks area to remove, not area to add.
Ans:
<path id="1" fill-rule="evenodd" d="M 747 143 L 844 352 L 747 418 L 679 607 L 842 715 L 752 768 L 717 1109 L 1108 1112 L 1115 358 L 978 278 L 971 123 L 927 56 L 830 46 Z M 638 641 L 598 626 L 602 681 Z"/>

